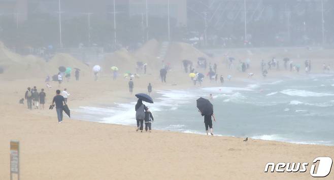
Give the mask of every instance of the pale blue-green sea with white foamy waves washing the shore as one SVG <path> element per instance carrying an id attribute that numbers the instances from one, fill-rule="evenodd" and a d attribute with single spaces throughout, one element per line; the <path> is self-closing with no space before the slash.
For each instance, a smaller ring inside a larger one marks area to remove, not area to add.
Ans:
<path id="1" fill-rule="evenodd" d="M 153 129 L 205 134 L 196 99 L 213 94 L 215 135 L 334 146 L 334 76 L 225 84 L 156 91 L 155 103 L 146 103 L 154 116 Z M 135 126 L 135 104 L 75 111 L 81 119 Z"/>

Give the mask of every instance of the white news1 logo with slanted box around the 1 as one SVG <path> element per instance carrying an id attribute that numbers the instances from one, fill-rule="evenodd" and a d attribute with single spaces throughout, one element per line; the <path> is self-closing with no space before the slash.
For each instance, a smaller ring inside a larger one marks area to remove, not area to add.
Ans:
<path id="1" fill-rule="evenodd" d="M 319 162 L 318 165 L 316 165 L 317 162 Z M 333 164 L 333 160 L 330 157 L 315 158 L 311 165 L 311 170 L 310 170 L 311 176 L 312 177 L 326 177 L 330 173 L 332 164 Z M 276 172 L 306 172 L 308 165 L 309 163 L 307 162 L 304 162 L 304 163 L 280 162 L 277 164 L 273 162 L 269 162 L 269 163 L 266 163 L 264 167 L 264 172 L 268 172 L 269 167 L 271 167 L 270 172 L 275 172 L 275 171 Z"/>

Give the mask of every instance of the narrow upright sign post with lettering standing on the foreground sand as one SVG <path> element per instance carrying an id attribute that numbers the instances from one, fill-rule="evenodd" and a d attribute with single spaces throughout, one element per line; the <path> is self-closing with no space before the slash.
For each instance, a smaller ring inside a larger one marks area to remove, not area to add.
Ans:
<path id="1" fill-rule="evenodd" d="M 20 179 L 20 142 L 11 141 L 11 180 L 13 174 L 17 174 L 17 178 Z"/>

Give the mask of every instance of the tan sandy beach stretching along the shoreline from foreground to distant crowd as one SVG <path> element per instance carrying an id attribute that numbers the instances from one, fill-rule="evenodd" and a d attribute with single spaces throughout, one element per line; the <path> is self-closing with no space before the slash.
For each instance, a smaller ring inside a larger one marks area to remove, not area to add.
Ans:
<path id="1" fill-rule="evenodd" d="M 147 82 L 157 89 L 191 88 L 181 71 L 171 73 L 162 85 L 157 74 L 135 80 L 135 92 L 146 92 Z M 130 102 L 127 81 L 104 75 L 66 83 L 69 105 Z M 21 145 L 22 179 L 312 179 L 309 170 L 316 157 L 334 157 L 334 147 L 242 138 L 206 136 L 154 130 L 139 133 L 135 127 L 64 119 L 58 124 L 48 104 L 57 89 L 46 90 L 45 110 L 19 105 L 26 87 L 44 88 L 43 79 L 2 81 L 0 91 L 0 179 L 9 179 L 9 142 Z M 204 86 L 210 86 L 205 83 Z M 211 84 L 212 86 L 212 84 Z M 216 85 L 214 85 L 216 86 Z M 153 94 L 154 96 L 154 94 Z M 217 118 L 219 121 L 219 118 Z M 135 119 L 133 119 L 135 121 Z M 309 162 L 305 173 L 264 173 L 268 162 Z M 329 174 L 326 179 L 332 179 Z"/>

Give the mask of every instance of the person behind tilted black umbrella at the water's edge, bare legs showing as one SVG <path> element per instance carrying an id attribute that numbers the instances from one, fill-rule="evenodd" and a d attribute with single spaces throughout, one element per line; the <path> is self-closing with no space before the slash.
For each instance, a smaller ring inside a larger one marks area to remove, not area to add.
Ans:
<path id="1" fill-rule="evenodd" d="M 201 97 L 197 99 L 197 108 L 198 112 L 200 112 L 201 115 L 204 116 L 204 125 L 205 130 L 207 131 L 207 135 L 209 135 L 209 128 L 210 134 L 213 135 L 212 117 L 213 120 L 216 122 L 215 115 L 213 114 L 213 105 L 208 99 Z"/>

